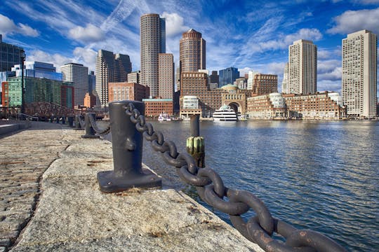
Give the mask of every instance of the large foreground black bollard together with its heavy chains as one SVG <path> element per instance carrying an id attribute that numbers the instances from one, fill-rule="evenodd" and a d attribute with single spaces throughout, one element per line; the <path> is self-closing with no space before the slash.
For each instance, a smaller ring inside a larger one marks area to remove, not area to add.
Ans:
<path id="1" fill-rule="evenodd" d="M 142 171 L 143 139 L 150 141 L 154 151 L 176 169 L 180 178 L 191 186 L 206 204 L 230 216 L 230 221 L 241 235 L 255 242 L 265 251 L 346 251 L 332 239 L 313 230 L 298 230 L 284 221 L 272 217 L 269 209 L 258 197 L 246 190 L 227 188 L 215 170 L 199 168 L 188 153 L 179 153 L 173 141 L 165 141 L 164 135 L 154 131 L 145 121 L 143 102 L 123 101 L 109 103 L 109 125 L 98 127 L 91 113 L 86 114 L 86 135 L 94 132 L 112 133 L 114 170 L 98 173 L 100 190 L 116 193 L 128 188 L 155 188 L 161 179 Z M 242 217 L 252 209 L 255 216 L 247 222 Z M 280 241 L 274 233 L 284 237 Z"/>

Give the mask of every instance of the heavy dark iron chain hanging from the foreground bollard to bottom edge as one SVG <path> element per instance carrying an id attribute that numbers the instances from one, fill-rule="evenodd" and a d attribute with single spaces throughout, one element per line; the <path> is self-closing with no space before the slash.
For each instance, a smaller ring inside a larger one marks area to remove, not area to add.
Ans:
<path id="1" fill-rule="evenodd" d="M 189 185 L 196 186 L 204 202 L 229 214 L 234 228 L 265 251 L 346 251 L 319 232 L 298 230 L 292 225 L 272 218 L 265 203 L 253 193 L 226 188 L 213 169 L 199 169 L 191 155 L 178 153 L 175 143 L 165 141 L 161 132 L 154 132 L 152 124 L 145 122 L 145 116 L 141 115 L 132 103 L 124 106 L 124 109 L 126 115 L 130 116 L 131 122 L 135 124 L 135 129 L 150 141 L 154 151 L 162 153 L 162 158 L 168 165 L 178 168 L 180 178 Z M 229 201 L 225 200 L 225 197 Z M 250 209 L 253 209 L 256 216 L 251 217 L 246 223 L 241 215 Z M 286 238 L 286 243 L 273 239 L 274 232 Z"/>

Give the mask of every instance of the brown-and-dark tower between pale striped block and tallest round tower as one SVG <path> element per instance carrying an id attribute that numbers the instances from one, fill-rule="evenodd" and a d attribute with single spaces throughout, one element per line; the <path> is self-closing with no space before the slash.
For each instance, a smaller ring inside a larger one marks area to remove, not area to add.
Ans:
<path id="1" fill-rule="evenodd" d="M 108 83 L 126 81 L 131 72 L 131 61 L 128 55 L 99 50 L 95 68 L 96 92 L 101 106 L 107 106 Z"/>

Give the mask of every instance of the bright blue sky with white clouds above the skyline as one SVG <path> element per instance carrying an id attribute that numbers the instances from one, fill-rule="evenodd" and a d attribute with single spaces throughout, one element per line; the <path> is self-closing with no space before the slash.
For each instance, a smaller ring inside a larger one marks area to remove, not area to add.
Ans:
<path id="1" fill-rule="evenodd" d="M 288 45 L 308 39 L 318 46 L 317 90 L 340 92 L 341 41 L 368 29 L 379 34 L 379 0 L 179 1 L 179 0 L 2 0 L 3 41 L 25 48 L 27 60 L 57 66 L 77 62 L 95 70 L 99 49 L 131 57 L 140 67 L 140 15 L 166 18 L 166 52 L 179 61 L 183 31 L 196 29 L 206 40 L 206 66 L 229 66 L 279 77 Z"/>

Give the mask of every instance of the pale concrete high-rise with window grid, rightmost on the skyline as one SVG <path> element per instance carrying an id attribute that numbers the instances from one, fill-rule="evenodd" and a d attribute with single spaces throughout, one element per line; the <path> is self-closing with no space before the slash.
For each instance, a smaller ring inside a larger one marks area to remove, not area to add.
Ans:
<path id="1" fill-rule="evenodd" d="M 362 30 L 347 34 L 342 51 L 342 96 L 348 116 L 376 116 L 376 34 Z"/>

